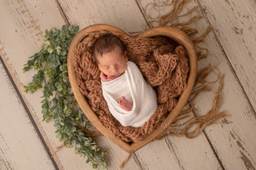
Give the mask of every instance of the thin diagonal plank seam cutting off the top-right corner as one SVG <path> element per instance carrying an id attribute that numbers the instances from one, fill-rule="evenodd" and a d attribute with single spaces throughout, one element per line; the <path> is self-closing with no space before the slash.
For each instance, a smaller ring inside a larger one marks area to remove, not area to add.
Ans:
<path id="1" fill-rule="evenodd" d="M 199 0 L 195 0 L 195 2 L 198 3 L 198 6 L 199 6 L 199 8 L 200 8 L 200 10 L 201 10 L 201 13 L 203 14 L 203 16 L 204 16 L 204 18 L 205 18 L 205 21 L 206 21 L 209 25 L 211 25 L 211 22 L 209 21 L 209 18 L 205 15 L 204 9 L 203 9 L 201 3 L 199 2 Z M 241 87 L 241 89 L 242 89 L 242 91 L 243 91 L 243 93 L 244 93 L 244 95 L 245 95 L 246 100 L 248 101 L 248 103 L 249 103 L 250 107 L 252 108 L 254 114 L 256 114 L 256 111 L 255 111 L 254 108 L 253 108 L 253 104 L 252 104 L 252 102 L 250 101 L 248 95 L 246 94 L 245 88 L 243 87 L 242 83 L 239 81 L 239 77 L 238 77 L 238 75 L 236 74 L 235 69 L 233 69 L 232 63 L 230 62 L 228 56 L 226 55 L 226 51 L 225 51 L 225 49 L 223 49 L 223 47 L 222 47 L 222 45 L 221 45 L 221 42 L 219 41 L 219 38 L 218 38 L 218 36 L 216 35 L 216 32 L 214 31 L 214 29 L 212 29 L 212 33 L 213 33 L 213 35 L 214 35 L 214 37 L 215 37 L 215 39 L 216 39 L 216 42 L 219 43 L 219 47 L 220 47 L 220 49 L 222 49 L 224 56 L 226 56 L 226 61 L 229 63 L 230 68 L 231 68 L 231 70 L 232 70 L 232 74 L 234 75 L 234 77 L 236 78 L 237 82 L 239 83 L 239 86 Z"/>

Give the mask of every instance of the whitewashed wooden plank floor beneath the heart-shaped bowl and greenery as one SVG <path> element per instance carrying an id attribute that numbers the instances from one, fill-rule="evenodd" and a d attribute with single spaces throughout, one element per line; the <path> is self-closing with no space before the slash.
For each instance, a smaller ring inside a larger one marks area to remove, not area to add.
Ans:
<path id="1" fill-rule="evenodd" d="M 34 74 L 23 73 L 23 65 L 42 48 L 44 29 L 59 29 L 63 24 L 83 29 L 94 23 L 108 23 L 126 32 L 145 30 L 150 23 L 145 6 L 152 1 L 0 0 L 1 170 L 92 169 L 74 149 L 63 148 L 51 157 L 61 143 L 56 139 L 53 123 L 42 121 L 42 93 L 30 95 L 23 91 L 23 85 Z M 186 6 L 196 6 L 202 13 L 203 17 L 193 24 L 199 35 L 209 24 L 213 27 L 200 46 L 214 56 L 199 61 L 199 68 L 219 64 L 219 70 L 226 74 L 219 110 L 227 111 L 231 117 L 206 127 L 196 139 L 171 136 L 154 141 L 133 154 L 124 169 L 255 170 L 256 2 L 191 0 Z M 162 8 L 160 12 L 168 10 Z M 187 17 L 179 19 L 185 20 Z M 211 75 L 209 80 L 214 79 Z M 211 108 L 212 97 L 199 96 L 199 114 Z M 127 153 L 104 137 L 97 141 L 109 152 L 109 169 L 118 169 Z"/>

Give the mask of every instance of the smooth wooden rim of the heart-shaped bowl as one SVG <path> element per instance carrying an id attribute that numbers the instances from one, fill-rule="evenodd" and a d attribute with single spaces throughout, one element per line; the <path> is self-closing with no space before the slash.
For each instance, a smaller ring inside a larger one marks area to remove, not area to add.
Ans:
<path id="1" fill-rule="evenodd" d="M 95 114 L 91 110 L 88 102 L 85 100 L 84 95 L 82 95 L 82 93 L 79 91 L 79 88 L 77 85 L 77 76 L 71 62 L 72 58 L 75 55 L 75 49 L 77 47 L 77 44 L 84 40 L 84 37 L 88 36 L 91 32 L 99 31 L 99 30 L 106 30 L 109 32 L 118 32 L 119 34 L 126 34 L 121 29 L 118 29 L 111 25 L 105 25 L 105 24 L 95 24 L 80 30 L 77 33 L 77 35 L 73 38 L 70 49 L 69 49 L 69 54 L 68 54 L 68 74 L 71 82 L 71 88 L 73 90 L 73 93 L 77 99 L 77 102 L 80 108 L 83 110 L 86 117 L 91 121 L 93 126 L 97 127 L 98 130 L 102 134 L 104 134 L 105 137 L 107 137 L 109 140 L 111 140 L 116 145 L 118 145 L 118 147 L 121 147 L 128 153 L 133 153 L 137 151 L 140 147 L 144 147 L 147 143 L 149 143 L 154 138 L 156 138 L 159 134 L 161 134 L 166 129 L 166 127 L 168 127 L 168 125 L 170 125 L 172 121 L 174 121 L 174 119 L 178 116 L 178 114 L 184 108 L 185 103 L 192 92 L 192 88 L 194 86 L 194 82 L 196 79 L 196 73 L 197 73 L 196 52 L 190 38 L 179 29 L 175 29 L 171 27 L 158 27 L 158 28 L 145 30 L 142 34 L 138 35 L 138 37 L 167 36 L 167 37 L 170 37 L 175 42 L 178 42 L 179 44 L 183 45 L 188 52 L 190 69 L 189 69 L 189 75 L 187 80 L 187 87 L 185 88 L 185 91 L 183 92 L 183 94 L 179 96 L 178 104 L 176 105 L 175 108 L 173 108 L 172 112 L 168 114 L 168 116 L 166 117 L 162 125 L 159 126 L 156 130 L 154 130 L 151 134 L 148 134 L 143 140 L 129 144 L 129 143 L 126 143 L 125 141 L 121 141 L 115 138 L 111 134 L 110 130 L 104 127 L 104 124 L 101 121 L 99 121 L 97 114 Z"/>

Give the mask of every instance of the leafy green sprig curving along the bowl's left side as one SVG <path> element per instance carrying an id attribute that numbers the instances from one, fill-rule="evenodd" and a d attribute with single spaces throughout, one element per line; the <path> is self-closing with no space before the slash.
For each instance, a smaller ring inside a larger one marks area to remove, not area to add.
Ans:
<path id="1" fill-rule="evenodd" d="M 32 82 L 24 86 L 26 93 L 34 93 L 44 88 L 42 114 L 44 121 L 54 120 L 56 136 L 66 147 L 75 147 L 75 152 L 87 157 L 86 163 L 92 167 L 106 169 L 104 155 L 90 134 L 90 121 L 78 107 L 68 79 L 67 54 L 77 26 L 66 26 L 62 29 L 45 30 L 44 47 L 24 64 L 24 72 L 34 69 L 37 74 Z"/>

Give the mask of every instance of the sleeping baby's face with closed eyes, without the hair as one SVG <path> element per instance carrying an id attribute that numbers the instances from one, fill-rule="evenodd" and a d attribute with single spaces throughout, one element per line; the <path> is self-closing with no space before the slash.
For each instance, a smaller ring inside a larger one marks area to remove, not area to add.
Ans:
<path id="1" fill-rule="evenodd" d="M 118 46 L 111 52 L 96 57 L 98 60 L 98 69 L 109 78 L 115 79 L 125 72 L 128 58 L 126 51 L 122 54 L 122 50 Z"/>

